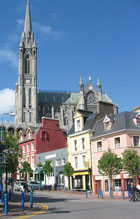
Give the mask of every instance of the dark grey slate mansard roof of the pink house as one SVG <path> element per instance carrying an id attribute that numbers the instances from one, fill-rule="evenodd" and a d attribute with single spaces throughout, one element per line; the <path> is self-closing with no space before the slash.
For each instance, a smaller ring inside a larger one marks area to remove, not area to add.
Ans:
<path id="1" fill-rule="evenodd" d="M 131 129 L 140 130 L 140 127 L 136 126 L 132 120 L 133 118 L 136 117 L 136 115 L 137 115 L 136 112 L 122 112 L 116 115 L 108 116 L 113 121 L 113 125 L 110 130 L 104 129 L 104 123 L 103 123 L 104 118 L 102 118 L 97 122 L 97 125 L 94 130 L 94 134 L 92 135 L 91 138 L 109 134 L 112 132 L 121 131 L 121 130 L 131 130 Z"/>

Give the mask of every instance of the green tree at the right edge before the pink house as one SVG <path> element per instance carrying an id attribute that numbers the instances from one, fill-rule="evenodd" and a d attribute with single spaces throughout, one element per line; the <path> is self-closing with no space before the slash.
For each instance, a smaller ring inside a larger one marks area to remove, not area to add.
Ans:
<path id="1" fill-rule="evenodd" d="M 136 182 L 136 176 L 140 174 L 140 157 L 134 149 L 126 149 L 123 153 L 123 168 Z"/>

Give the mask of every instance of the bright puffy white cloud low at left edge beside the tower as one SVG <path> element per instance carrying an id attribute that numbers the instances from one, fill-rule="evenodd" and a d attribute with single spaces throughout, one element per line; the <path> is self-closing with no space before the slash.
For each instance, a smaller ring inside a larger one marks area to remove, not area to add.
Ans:
<path id="1" fill-rule="evenodd" d="M 15 91 L 9 88 L 0 90 L 0 114 L 14 111 Z"/>

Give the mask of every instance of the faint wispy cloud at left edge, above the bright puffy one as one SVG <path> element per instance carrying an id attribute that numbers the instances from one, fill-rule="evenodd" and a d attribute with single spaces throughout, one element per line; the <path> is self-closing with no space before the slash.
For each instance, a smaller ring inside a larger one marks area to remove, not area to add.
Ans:
<path id="1" fill-rule="evenodd" d="M 0 61 L 1 62 L 8 62 L 14 67 L 18 67 L 18 57 L 15 51 L 8 49 L 8 48 L 3 48 L 0 49 Z"/>

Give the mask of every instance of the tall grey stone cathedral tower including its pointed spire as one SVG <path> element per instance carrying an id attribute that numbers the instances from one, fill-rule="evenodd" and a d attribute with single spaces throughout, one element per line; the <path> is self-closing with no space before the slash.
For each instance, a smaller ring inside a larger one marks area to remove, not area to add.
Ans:
<path id="1" fill-rule="evenodd" d="M 32 32 L 29 0 L 27 0 L 24 32 L 19 45 L 15 99 L 15 124 L 35 126 L 37 122 L 37 47 Z"/>

